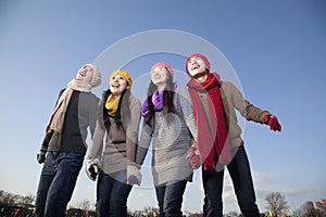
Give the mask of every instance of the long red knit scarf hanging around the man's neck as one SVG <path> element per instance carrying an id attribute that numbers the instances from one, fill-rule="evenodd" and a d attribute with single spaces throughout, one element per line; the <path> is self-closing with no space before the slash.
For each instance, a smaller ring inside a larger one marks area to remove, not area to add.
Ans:
<path id="1" fill-rule="evenodd" d="M 220 75 L 209 73 L 205 81 L 198 82 L 191 79 L 187 84 L 198 128 L 197 146 L 204 170 L 216 168 L 216 153 L 218 155 L 218 163 L 222 165 L 228 164 L 231 158 L 218 80 Z M 205 112 L 198 92 L 206 94 L 211 126 L 209 125 L 208 118 L 205 118 Z"/>

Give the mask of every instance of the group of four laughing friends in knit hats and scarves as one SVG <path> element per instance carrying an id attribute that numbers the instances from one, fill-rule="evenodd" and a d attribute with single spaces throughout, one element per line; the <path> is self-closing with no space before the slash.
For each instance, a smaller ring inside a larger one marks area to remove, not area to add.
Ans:
<path id="1" fill-rule="evenodd" d="M 127 199 L 133 186 L 141 184 L 141 167 L 151 144 L 160 217 L 183 216 L 186 186 L 200 167 L 203 216 L 223 216 L 227 168 L 242 216 L 259 217 L 236 111 L 271 130 L 280 131 L 281 126 L 276 116 L 251 104 L 235 85 L 212 73 L 203 54 L 190 54 L 185 67 L 189 81 L 183 87 L 175 82 L 171 65 L 155 63 L 141 104 L 130 91 L 131 76 L 123 69 L 110 75 L 109 88 L 98 99 L 91 89 L 101 84 L 101 73 L 93 64 L 85 64 L 60 91 L 37 153 L 43 167 L 36 216 L 64 216 L 85 156 L 86 174 L 97 181 L 97 216 L 127 216 Z"/>

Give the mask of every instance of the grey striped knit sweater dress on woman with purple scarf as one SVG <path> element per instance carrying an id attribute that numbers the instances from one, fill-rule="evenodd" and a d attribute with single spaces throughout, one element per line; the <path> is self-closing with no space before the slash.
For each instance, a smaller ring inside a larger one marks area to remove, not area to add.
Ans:
<path id="1" fill-rule="evenodd" d="M 187 159 L 197 129 L 191 100 L 185 87 L 178 87 L 174 97 L 175 113 L 155 112 L 154 126 L 143 122 L 136 163 L 142 165 L 152 141 L 152 175 L 155 186 L 168 181 L 192 179 L 192 168 Z"/>

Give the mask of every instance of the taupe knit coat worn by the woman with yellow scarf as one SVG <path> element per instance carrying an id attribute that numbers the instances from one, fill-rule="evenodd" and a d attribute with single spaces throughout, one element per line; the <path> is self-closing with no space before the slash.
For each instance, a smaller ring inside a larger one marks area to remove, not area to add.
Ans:
<path id="1" fill-rule="evenodd" d="M 110 117 L 111 125 L 106 131 L 104 149 L 102 145 L 105 136 L 102 116 L 103 100 L 99 104 L 99 118 L 87 158 L 91 161 L 98 158 L 101 162 L 100 167 L 105 174 L 125 170 L 128 164 L 135 164 L 140 123 L 140 101 L 130 97 L 130 122 L 126 130 L 121 125 L 116 125 L 114 118 Z"/>

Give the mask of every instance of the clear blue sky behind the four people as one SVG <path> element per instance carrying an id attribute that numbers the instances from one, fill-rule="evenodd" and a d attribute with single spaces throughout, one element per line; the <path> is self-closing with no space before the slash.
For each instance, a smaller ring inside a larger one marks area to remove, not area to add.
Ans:
<path id="1" fill-rule="evenodd" d="M 165 41 L 166 50 L 155 48 L 162 46 L 165 37 L 149 37 L 140 43 L 130 41 L 130 36 L 143 33 L 165 36 L 166 30 L 186 39 L 167 37 L 175 47 Z M 103 84 L 93 91 L 100 97 L 108 87 L 110 71 L 116 69 L 113 68 L 116 60 L 125 61 L 121 64 L 136 80 L 133 91 L 142 100 L 148 87 L 146 75 L 155 61 L 171 63 L 179 72 L 177 81 L 187 81 L 183 74 L 186 55 L 205 52 L 191 42 L 193 37 L 218 50 L 224 63 L 229 64 L 230 67 L 211 59 L 212 68 L 222 74 L 222 79 L 235 79 L 228 73 L 234 72 L 246 99 L 275 114 L 283 125 L 280 133 L 255 123 L 243 126 L 260 209 L 265 210 L 264 197 L 274 191 L 285 195 L 294 209 L 305 201 L 325 199 L 326 1 L 323 0 L 0 0 L 3 81 L 0 190 L 22 195 L 36 193 L 41 170 L 36 153 L 45 127 L 59 90 L 82 64 L 102 61 L 103 65 L 104 61 L 110 65 L 103 66 Z M 116 55 L 112 52 L 103 55 L 108 50 L 114 50 Z M 149 162 L 150 157 L 147 168 Z M 134 188 L 130 193 L 131 209 L 156 206 L 148 171 L 143 171 L 142 187 Z M 238 210 L 226 175 L 225 213 Z M 95 202 L 95 182 L 83 168 L 72 203 Z M 202 210 L 199 170 L 187 186 L 184 199 L 184 210 Z"/>

